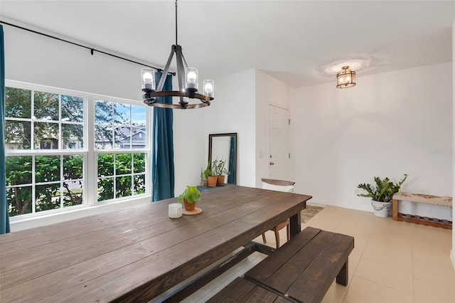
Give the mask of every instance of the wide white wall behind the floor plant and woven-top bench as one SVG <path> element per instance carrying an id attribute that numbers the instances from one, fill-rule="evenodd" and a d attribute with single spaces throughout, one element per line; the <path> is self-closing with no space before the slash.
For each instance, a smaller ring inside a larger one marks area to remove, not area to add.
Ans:
<path id="1" fill-rule="evenodd" d="M 359 72 L 357 80 L 347 89 L 327 83 L 295 90 L 295 191 L 314 202 L 372 211 L 356 186 L 373 176 L 397 181 L 409 174 L 402 191 L 451 196 L 451 63 Z M 430 208 L 451 218 L 447 208 Z"/>

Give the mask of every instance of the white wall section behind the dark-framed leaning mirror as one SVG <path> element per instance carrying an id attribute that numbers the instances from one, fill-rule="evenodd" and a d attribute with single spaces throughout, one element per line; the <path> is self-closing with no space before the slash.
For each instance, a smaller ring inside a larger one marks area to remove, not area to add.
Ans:
<path id="1" fill-rule="evenodd" d="M 200 165 L 207 165 L 208 134 L 237 132 L 237 185 L 255 187 L 255 70 L 215 79 L 215 100 L 203 111 L 205 157 Z"/>

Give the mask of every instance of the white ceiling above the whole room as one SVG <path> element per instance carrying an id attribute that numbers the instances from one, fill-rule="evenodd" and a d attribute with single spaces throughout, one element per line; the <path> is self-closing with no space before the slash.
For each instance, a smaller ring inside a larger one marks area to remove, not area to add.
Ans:
<path id="1" fill-rule="evenodd" d="M 162 1 L 1 0 L 2 21 L 163 68 L 175 6 Z M 451 61 L 455 1 L 178 1 L 178 44 L 200 78 L 264 70 L 293 87 Z M 6 25 L 5 25 L 6 27 Z M 7 46 L 6 46 L 7 47 Z"/>

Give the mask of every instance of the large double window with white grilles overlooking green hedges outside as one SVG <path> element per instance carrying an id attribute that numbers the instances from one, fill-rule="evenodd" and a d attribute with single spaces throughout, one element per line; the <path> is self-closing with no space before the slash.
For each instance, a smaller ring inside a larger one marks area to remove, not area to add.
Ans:
<path id="1" fill-rule="evenodd" d="M 145 105 L 37 85 L 6 86 L 10 216 L 149 191 Z"/>

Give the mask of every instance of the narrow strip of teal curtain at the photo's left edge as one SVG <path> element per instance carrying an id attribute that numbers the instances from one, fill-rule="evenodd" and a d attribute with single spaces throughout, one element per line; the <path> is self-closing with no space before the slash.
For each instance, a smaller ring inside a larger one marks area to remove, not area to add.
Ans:
<path id="1" fill-rule="evenodd" d="M 9 233 L 8 201 L 6 201 L 5 169 L 5 47 L 3 26 L 0 26 L 0 234 Z"/>

